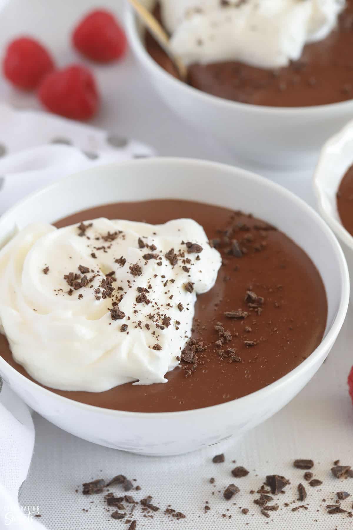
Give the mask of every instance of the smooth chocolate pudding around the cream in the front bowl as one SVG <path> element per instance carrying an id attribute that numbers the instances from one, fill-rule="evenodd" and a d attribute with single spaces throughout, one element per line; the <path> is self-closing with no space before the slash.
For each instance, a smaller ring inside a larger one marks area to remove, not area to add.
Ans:
<path id="1" fill-rule="evenodd" d="M 181 367 L 166 375 L 167 383 L 129 383 L 100 393 L 52 392 L 115 410 L 208 407 L 273 383 L 321 342 L 327 320 L 323 282 L 306 253 L 275 227 L 239 211 L 169 199 L 91 208 L 56 226 L 103 216 L 151 224 L 195 219 L 221 253 L 223 264 L 214 287 L 197 297 L 192 340 L 180 355 Z M 0 354 L 29 377 L 13 360 L 4 335 Z"/>

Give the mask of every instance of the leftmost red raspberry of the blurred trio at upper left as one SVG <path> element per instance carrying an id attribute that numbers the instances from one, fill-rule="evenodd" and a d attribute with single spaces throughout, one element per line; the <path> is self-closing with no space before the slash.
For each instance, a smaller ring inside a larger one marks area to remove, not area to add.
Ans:
<path id="1" fill-rule="evenodd" d="M 44 75 L 54 69 L 48 51 L 30 37 L 20 37 L 8 45 L 3 60 L 4 75 L 20 89 L 35 89 Z"/>

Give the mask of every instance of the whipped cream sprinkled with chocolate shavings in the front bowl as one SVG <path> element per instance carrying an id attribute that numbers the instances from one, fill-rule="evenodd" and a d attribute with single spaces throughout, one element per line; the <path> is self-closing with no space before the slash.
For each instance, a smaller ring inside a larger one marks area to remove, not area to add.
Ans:
<path id="1" fill-rule="evenodd" d="M 52 388 L 166 383 L 220 266 L 192 219 L 32 224 L 0 251 L 0 331 Z"/>

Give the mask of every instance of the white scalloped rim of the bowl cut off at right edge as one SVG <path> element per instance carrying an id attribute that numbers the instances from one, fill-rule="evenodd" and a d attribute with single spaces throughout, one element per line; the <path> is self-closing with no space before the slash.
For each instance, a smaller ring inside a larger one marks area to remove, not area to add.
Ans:
<path id="1" fill-rule="evenodd" d="M 321 216 L 340 240 L 353 250 L 353 236 L 348 232 L 345 226 L 343 226 L 341 220 L 333 217 L 327 208 L 325 208 L 325 192 L 321 184 L 321 179 L 327 172 L 327 159 L 331 156 L 331 152 L 337 152 L 338 149 L 341 151 L 348 141 L 348 136 L 353 136 L 353 120 L 349 121 L 336 135 L 331 136 L 331 138 L 329 138 L 322 146 L 319 160 L 313 174 L 313 188 Z M 353 154 L 351 157 L 351 164 L 353 164 Z M 341 179 L 343 176 L 344 175 L 341 175 Z"/>

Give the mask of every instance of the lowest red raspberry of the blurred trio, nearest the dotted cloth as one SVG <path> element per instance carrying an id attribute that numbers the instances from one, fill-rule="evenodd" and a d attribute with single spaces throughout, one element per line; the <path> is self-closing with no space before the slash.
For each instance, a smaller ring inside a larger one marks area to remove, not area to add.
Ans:
<path id="1" fill-rule="evenodd" d="M 48 74 L 39 87 L 38 97 L 51 112 L 74 120 L 92 118 L 99 103 L 92 73 L 75 64 Z"/>

